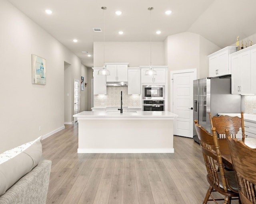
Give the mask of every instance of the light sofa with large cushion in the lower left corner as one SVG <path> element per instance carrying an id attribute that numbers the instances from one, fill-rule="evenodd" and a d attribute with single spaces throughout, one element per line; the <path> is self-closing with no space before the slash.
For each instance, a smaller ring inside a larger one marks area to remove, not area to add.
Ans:
<path id="1" fill-rule="evenodd" d="M 0 154 L 0 204 L 45 204 L 51 165 L 42 137 Z"/>

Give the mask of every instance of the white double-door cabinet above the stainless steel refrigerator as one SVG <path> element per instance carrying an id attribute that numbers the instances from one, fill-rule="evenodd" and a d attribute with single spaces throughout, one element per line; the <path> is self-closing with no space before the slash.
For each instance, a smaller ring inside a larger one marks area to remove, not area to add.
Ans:
<path id="1" fill-rule="evenodd" d="M 236 46 L 229 46 L 208 55 L 209 77 L 231 75 L 229 55 L 234 52 L 236 52 Z"/>

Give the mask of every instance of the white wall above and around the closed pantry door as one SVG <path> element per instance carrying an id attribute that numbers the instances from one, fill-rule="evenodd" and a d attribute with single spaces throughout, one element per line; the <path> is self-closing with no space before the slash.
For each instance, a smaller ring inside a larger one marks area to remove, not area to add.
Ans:
<path id="1" fill-rule="evenodd" d="M 197 78 L 208 77 L 208 55 L 220 48 L 204 37 L 190 32 L 170 35 L 165 40 L 165 61 L 168 65 L 168 87 L 170 71 L 196 69 Z M 168 101 L 170 98 L 168 90 Z M 170 110 L 168 104 L 168 110 Z"/>

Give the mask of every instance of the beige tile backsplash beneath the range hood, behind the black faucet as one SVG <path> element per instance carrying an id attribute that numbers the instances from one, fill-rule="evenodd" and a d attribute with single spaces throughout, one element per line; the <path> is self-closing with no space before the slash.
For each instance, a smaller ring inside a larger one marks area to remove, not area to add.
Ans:
<path id="1" fill-rule="evenodd" d="M 140 95 L 128 95 L 128 86 L 107 86 L 107 95 L 94 95 L 94 107 L 120 106 L 140 107 Z"/>

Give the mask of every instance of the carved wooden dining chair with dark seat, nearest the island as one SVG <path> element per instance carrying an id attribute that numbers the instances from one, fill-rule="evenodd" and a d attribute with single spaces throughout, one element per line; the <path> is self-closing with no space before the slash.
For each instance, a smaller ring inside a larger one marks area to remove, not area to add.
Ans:
<path id="1" fill-rule="evenodd" d="M 195 128 L 198 135 L 199 143 L 204 156 L 204 162 L 207 170 L 207 181 L 210 184 L 203 204 L 208 201 L 224 200 L 224 204 L 230 204 L 231 200 L 238 199 L 232 197 L 239 197 L 238 184 L 234 171 L 224 171 L 222 157 L 219 149 L 218 138 L 215 128 L 212 128 L 212 134 L 206 129 L 195 122 Z M 212 147 L 215 147 L 215 151 L 212 151 Z M 216 165 L 217 163 L 217 165 Z M 224 199 L 216 199 L 212 196 L 212 192 L 217 191 L 224 195 Z M 209 199 L 209 198 L 212 199 Z"/>

